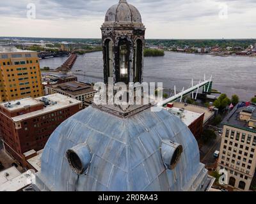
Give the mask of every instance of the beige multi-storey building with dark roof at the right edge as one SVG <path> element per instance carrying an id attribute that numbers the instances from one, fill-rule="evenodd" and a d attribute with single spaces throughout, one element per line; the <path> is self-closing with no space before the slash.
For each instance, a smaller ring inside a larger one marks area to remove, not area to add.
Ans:
<path id="1" fill-rule="evenodd" d="M 248 191 L 256 167 L 256 105 L 239 103 L 223 120 L 218 169 L 228 172 L 228 185 Z"/>

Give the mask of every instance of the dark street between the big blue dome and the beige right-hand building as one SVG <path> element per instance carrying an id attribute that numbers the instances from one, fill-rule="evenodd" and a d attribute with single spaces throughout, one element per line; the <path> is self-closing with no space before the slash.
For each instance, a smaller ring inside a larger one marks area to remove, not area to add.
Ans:
<path id="1" fill-rule="evenodd" d="M 221 145 L 220 133 L 216 131 L 216 135 L 217 138 L 215 140 L 212 140 L 207 145 L 200 148 L 200 160 L 201 163 L 205 164 L 206 166 L 216 163 L 216 159 L 214 158 L 213 154 L 216 150 L 220 150 Z"/>

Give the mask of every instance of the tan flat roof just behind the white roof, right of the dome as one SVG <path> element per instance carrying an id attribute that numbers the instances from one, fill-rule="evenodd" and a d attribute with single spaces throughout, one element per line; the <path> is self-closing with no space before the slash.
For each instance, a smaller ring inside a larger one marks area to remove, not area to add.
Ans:
<path id="1" fill-rule="evenodd" d="M 173 102 L 173 106 L 176 108 L 184 108 L 185 110 L 189 110 L 191 112 L 196 112 L 196 113 L 204 113 L 204 123 L 207 122 L 211 117 L 214 115 L 214 112 L 211 112 L 208 110 L 208 108 L 204 108 L 201 106 L 196 106 L 196 105 L 190 105 L 187 104 L 185 106 L 185 103 L 180 103 L 180 102 Z"/>

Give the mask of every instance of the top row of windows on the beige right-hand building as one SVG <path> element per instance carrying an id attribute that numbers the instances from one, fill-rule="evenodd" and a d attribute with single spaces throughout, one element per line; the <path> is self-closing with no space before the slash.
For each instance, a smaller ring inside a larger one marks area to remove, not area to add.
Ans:
<path id="1" fill-rule="evenodd" d="M 256 146 L 256 136 L 252 136 L 248 134 L 246 138 L 246 133 L 240 133 L 239 131 L 234 131 L 234 130 L 232 130 L 230 133 L 230 129 L 227 129 L 225 133 L 225 137 L 229 138 L 229 136 L 230 136 L 230 139 L 232 140 L 235 139 L 237 142 L 247 143 L 248 145 L 251 145 L 252 143 L 253 146 Z"/>

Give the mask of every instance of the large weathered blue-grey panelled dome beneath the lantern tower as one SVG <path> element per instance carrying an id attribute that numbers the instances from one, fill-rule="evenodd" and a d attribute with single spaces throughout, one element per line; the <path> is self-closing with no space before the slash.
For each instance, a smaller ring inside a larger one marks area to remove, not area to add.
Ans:
<path id="1" fill-rule="evenodd" d="M 183 147 L 173 170 L 164 166 L 163 140 Z M 70 167 L 68 149 L 80 151 L 85 174 Z M 40 191 L 205 191 L 210 182 L 188 127 L 166 110 L 150 109 L 127 119 L 92 106 L 73 115 L 52 133 L 36 173 Z"/>

